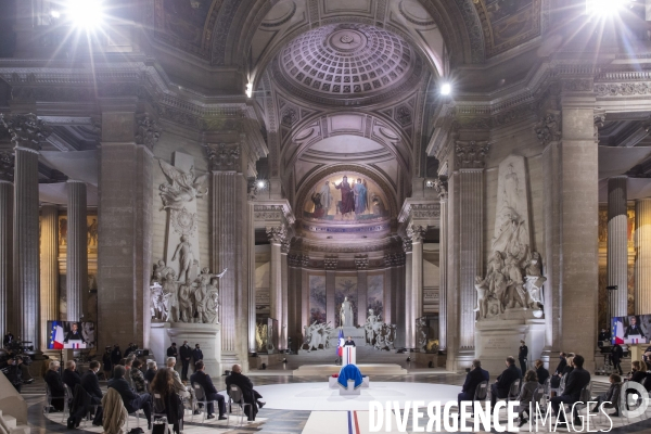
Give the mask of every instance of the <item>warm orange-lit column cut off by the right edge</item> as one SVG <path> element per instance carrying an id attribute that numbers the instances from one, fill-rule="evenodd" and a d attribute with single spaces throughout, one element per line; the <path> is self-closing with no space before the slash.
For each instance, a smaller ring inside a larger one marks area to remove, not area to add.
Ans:
<path id="1" fill-rule="evenodd" d="M 651 311 L 651 199 L 635 202 L 635 312 L 646 314 Z"/>

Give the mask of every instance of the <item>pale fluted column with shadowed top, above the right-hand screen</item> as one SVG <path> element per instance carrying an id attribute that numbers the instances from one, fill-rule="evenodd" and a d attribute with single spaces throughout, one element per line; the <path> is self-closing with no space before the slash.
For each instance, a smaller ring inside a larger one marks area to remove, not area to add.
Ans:
<path id="1" fill-rule="evenodd" d="M 608 318 L 628 314 L 628 216 L 626 213 L 627 177 L 608 180 Z"/>

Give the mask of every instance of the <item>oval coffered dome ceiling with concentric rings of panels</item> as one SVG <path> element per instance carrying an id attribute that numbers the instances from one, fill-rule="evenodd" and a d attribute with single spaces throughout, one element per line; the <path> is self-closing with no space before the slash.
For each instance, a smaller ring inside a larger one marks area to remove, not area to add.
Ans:
<path id="1" fill-rule="evenodd" d="M 420 79 L 419 54 L 399 36 L 361 24 L 328 25 L 290 42 L 277 56 L 284 87 L 320 102 L 378 101 Z"/>

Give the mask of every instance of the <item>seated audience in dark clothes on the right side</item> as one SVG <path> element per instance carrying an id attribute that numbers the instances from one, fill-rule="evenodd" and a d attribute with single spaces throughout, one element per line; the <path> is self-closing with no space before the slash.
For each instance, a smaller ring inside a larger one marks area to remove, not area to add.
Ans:
<path id="1" fill-rule="evenodd" d="M 520 355 L 522 355 L 522 347 Z M 618 355 L 618 353 L 616 355 Z M 621 357 L 622 356 L 617 358 L 617 363 L 615 365 L 620 372 L 622 371 L 620 366 Z M 646 355 L 644 358 L 650 357 L 651 347 L 649 348 L 649 356 Z M 522 357 L 519 358 L 522 362 Z M 529 404 L 534 401 L 536 392 L 542 393 L 546 382 L 549 379 L 547 387 L 549 391 L 551 409 L 553 414 L 559 418 L 559 423 L 566 424 L 567 421 L 564 418 L 565 411 L 561 411 L 561 406 L 567 405 L 569 408 L 572 408 L 575 403 L 580 401 L 584 387 L 590 384 L 590 373 L 584 369 L 584 362 L 585 359 L 582 355 L 560 353 L 559 363 L 552 373 L 545 368 L 545 363 L 539 359 L 535 361 L 534 369 L 526 370 L 523 373 L 522 368 L 515 366 L 515 359 L 511 356 L 507 357 L 505 360 L 506 369 L 489 386 L 490 412 L 493 413 L 497 399 L 506 399 L 510 396 L 513 400 L 520 401 L 519 426 L 523 426 L 528 421 L 527 417 L 531 417 L 531 414 L 528 414 Z M 611 374 L 609 378 L 609 390 L 604 394 L 591 397 L 591 400 L 596 401 L 596 405 L 591 407 L 589 411 L 599 412 L 600 408 L 613 409 L 614 411 L 609 416 L 618 417 L 620 397 L 622 390 L 625 386 L 623 381 L 622 374 Z M 631 372 L 625 381 L 639 383 L 647 392 L 651 392 L 651 359 L 649 361 L 634 360 L 631 363 Z M 481 360 L 475 359 L 465 376 L 461 393 L 458 395 L 459 408 L 461 408 L 462 401 L 474 400 L 475 391 L 483 382 L 489 382 L 489 373 L 482 368 Z M 514 383 L 520 386 L 518 397 L 513 395 L 514 391 L 512 390 L 512 385 Z M 634 388 L 625 388 L 624 393 L 626 394 L 637 394 Z M 460 414 L 461 412 L 459 412 L 459 418 L 461 417 Z M 578 418 L 578 414 L 574 412 L 572 418 L 575 425 L 580 425 L 582 421 Z"/>

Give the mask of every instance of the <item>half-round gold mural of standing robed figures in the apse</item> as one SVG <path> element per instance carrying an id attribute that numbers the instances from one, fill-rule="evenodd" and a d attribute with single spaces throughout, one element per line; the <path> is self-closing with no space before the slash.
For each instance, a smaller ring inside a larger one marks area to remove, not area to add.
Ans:
<path id="1" fill-rule="evenodd" d="M 303 217 L 326 221 L 379 221 L 388 217 L 386 195 L 359 174 L 340 173 L 318 181 L 307 194 Z"/>

